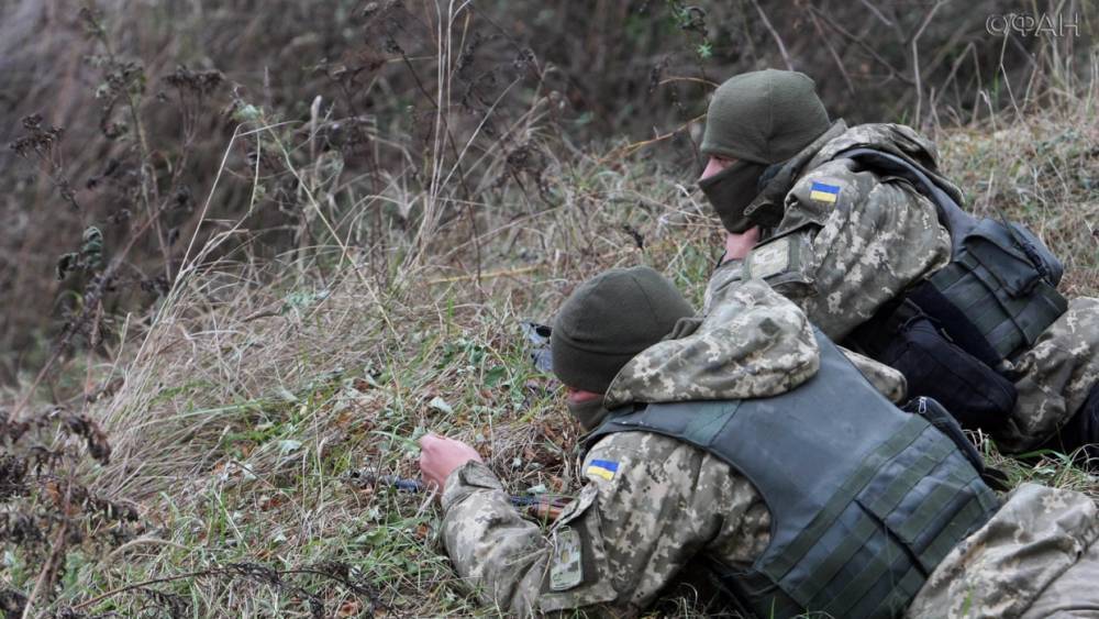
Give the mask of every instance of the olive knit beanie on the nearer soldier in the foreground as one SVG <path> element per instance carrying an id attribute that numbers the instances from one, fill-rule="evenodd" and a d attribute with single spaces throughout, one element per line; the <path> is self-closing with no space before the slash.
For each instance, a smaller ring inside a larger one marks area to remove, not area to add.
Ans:
<path id="1" fill-rule="evenodd" d="M 612 268 L 580 284 L 550 335 L 553 372 L 574 389 L 606 394 L 622 366 L 695 310 L 647 266 Z"/>

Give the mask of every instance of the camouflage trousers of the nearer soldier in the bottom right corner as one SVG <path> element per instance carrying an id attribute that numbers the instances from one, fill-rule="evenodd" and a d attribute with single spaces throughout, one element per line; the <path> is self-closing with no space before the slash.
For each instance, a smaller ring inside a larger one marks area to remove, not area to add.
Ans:
<path id="1" fill-rule="evenodd" d="M 1097 538 L 1091 499 L 1023 484 L 935 567 L 906 617 L 1099 617 Z"/>

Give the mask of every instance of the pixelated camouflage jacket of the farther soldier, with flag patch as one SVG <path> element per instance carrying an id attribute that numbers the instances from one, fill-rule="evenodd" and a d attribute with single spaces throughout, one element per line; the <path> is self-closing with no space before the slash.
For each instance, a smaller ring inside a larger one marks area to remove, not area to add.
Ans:
<path id="1" fill-rule="evenodd" d="M 930 200 L 907 181 L 855 172 L 850 159 L 833 158 L 855 146 L 922 164 L 962 200 L 957 188 L 934 174 L 935 147 L 915 131 L 898 124 L 847 129 L 836 121 L 784 164 L 748 206 L 748 213 L 770 224 L 767 236 L 744 261 L 719 267 L 711 291 L 765 278 L 829 338 L 841 341 L 882 303 L 950 261 L 950 235 Z"/>

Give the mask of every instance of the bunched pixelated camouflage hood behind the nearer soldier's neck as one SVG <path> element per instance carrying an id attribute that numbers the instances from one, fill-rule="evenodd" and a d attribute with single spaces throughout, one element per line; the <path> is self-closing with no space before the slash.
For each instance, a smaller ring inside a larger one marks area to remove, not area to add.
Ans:
<path id="1" fill-rule="evenodd" d="M 762 280 L 724 291 L 692 333 L 630 360 L 607 391 L 607 408 L 631 402 L 758 398 L 817 374 L 812 325 Z"/>

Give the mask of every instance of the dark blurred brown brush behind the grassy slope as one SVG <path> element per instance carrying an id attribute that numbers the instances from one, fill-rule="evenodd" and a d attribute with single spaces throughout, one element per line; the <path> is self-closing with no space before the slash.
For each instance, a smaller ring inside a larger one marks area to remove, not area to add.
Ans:
<path id="1" fill-rule="evenodd" d="M 988 32 L 1013 12 L 1052 15 L 1064 36 Z M 187 247 L 242 215 L 256 255 L 353 232 L 385 274 L 400 261 L 380 230 L 417 230 L 422 212 L 384 188 L 430 194 L 434 169 L 459 155 L 459 200 L 434 215 L 476 224 L 485 209 L 460 200 L 499 201 L 515 185 L 525 208 L 545 208 L 547 168 L 592 143 L 663 139 L 643 155 L 689 184 L 708 92 L 743 70 L 808 73 L 848 124 L 970 124 L 1075 92 L 1094 70 L 1096 19 L 1076 1 L 9 0 L 0 143 L 25 135 L 31 114 L 64 133 L 30 161 L 0 151 L 0 382 L 40 367 L 79 314 L 95 273 L 56 267 L 92 225 L 116 253 L 143 211 L 157 213 L 109 286 L 109 316 L 154 306 Z M 547 122 L 518 131 L 532 114 Z M 231 141 L 249 120 L 282 123 L 289 161 Z M 487 153 L 499 161 L 478 165 Z M 313 183 L 357 189 L 323 206 L 332 230 L 287 174 L 307 161 Z"/>

